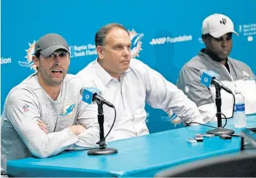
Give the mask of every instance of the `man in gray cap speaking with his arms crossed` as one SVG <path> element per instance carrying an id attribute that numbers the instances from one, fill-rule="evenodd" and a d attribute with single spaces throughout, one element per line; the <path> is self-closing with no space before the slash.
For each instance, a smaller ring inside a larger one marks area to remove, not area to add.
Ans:
<path id="1" fill-rule="evenodd" d="M 97 106 L 81 101 L 80 78 L 67 74 L 69 46 L 58 34 L 36 42 L 38 72 L 12 88 L 1 116 L 1 174 L 6 162 L 49 157 L 99 141 Z"/>

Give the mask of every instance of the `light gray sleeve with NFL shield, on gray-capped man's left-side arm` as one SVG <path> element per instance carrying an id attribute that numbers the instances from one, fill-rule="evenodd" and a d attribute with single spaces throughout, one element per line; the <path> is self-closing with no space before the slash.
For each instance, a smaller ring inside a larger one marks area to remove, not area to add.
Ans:
<path id="1" fill-rule="evenodd" d="M 39 102 L 29 90 L 19 88 L 12 91 L 6 104 L 10 123 L 35 157 L 56 155 L 78 142 L 76 135 L 68 128 L 50 134 L 40 129 L 37 124 L 37 120 L 41 119 Z M 27 110 L 23 106 L 27 106 Z"/>

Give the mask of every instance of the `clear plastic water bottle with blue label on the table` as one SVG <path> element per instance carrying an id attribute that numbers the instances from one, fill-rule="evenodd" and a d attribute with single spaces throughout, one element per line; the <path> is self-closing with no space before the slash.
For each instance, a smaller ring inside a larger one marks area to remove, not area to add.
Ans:
<path id="1" fill-rule="evenodd" d="M 235 128 L 246 127 L 244 96 L 238 91 L 235 92 L 235 108 L 233 118 Z"/>

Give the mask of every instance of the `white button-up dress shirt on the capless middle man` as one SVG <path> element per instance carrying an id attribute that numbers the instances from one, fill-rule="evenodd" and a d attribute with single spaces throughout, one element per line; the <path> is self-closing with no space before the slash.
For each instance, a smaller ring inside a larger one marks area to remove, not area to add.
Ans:
<path id="1" fill-rule="evenodd" d="M 98 88 L 102 91 L 101 96 L 115 105 L 117 117 L 107 141 L 149 134 L 145 103 L 165 112 L 174 112 L 183 123 L 204 123 L 196 104 L 161 74 L 137 59 L 131 59 L 130 67 L 121 75 L 120 81 L 111 77 L 97 60 L 76 75 L 81 77 L 85 87 Z M 114 110 L 106 105 L 103 110 L 105 124 L 110 128 Z"/>

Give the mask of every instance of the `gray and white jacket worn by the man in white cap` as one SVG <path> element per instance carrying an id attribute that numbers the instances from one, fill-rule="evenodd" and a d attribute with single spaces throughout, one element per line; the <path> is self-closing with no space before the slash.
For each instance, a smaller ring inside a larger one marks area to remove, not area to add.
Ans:
<path id="1" fill-rule="evenodd" d="M 254 95 L 256 94 L 256 84 L 254 81 L 255 75 L 251 71 L 251 68 L 245 63 L 232 59 L 231 57 L 228 57 L 227 64 L 229 65 L 230 73 L 228 72 L 226 66 L 214 61 L 204 52 L 199 52 L 198 55 L 193 57 L 181 68 L 177 86 L 183 90 L 189 99 L 196 103 L 199 110 L 202 108 L 201 114 L 205 113 L 205 116 L 203 116 L 204 121 L 215 120 L 215 88 L 207 88 L 200 83 L 200 70 L 213 70 L 220 75 L 220 81 L 222 81 L 222 83 L 226 84 L 226 86 L 233 90 L 233 92 L 235 92 L 235 90 L 240 90 L 240 92 L 244 94 L 244 97 L 246 97 L 247 92 L 250 94 L 253 93 Z M 253 83 L 252 88 L 251 83 Z M 246 88 L 246 86 L 250 87 Z M 230 115 L 230 110 L 232 108 L 225 106 L 225 102 L 227 102 L 225 99 L 228 98 L 227 100 L 231 100 L 231 104 L 228 105 L 233 106 L 233 97 L 223 90 L 221 92 L 222 105 L 224 105 L 222 109 L 229 110 L 229 114 L 227 115 Z M 251 106 L 251 103 L 253 105 L 256 104 L 256 98 L 250 97 L 246 97 L 248 100 L 246 102 L 249 102 L 247 104 L 249 108 L 246 108 L 248 109 L 247 112 L 256 112 L 256 105 L 255 107 Z M 209 116 L 209 114 L 211 114 L 211 116 Z"/>

